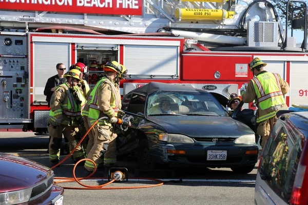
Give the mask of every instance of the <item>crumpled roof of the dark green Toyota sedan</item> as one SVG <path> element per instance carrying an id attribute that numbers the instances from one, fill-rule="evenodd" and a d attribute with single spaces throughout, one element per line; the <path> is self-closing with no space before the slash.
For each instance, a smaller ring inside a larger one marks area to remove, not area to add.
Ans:
<path id="1" fill-rule="evenodd" d="M 152 93 L 155 91 L 186 91 L 186 92 L 205 92 L 203 90 L 198 90 L 192 87 L 190 84 L 167 84 L 167 83 L 159 83 L 159 82 L 150 82 L 144 86 L 136 88 L 131 92 L 142 92 L 142 93 Z"/>

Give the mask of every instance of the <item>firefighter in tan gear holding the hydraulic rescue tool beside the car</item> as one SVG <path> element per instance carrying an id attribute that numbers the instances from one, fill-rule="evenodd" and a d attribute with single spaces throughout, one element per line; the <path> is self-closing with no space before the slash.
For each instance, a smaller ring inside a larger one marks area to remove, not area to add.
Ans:
<path id="1" fill-rule="evenodd" d="M 117 89 L 118 77 L 122 74 L 122 67 L 117 61 L 107 62 L 104 66 L 105 76 L 98 81 L 91 91 L 83 110 L 85 127 L 88 129 L 101 117 L 89 133 L 87 158 L 92 159 L 97 167 L 110 166 L 117 162 L 115 137 L 112 123 L 117 121 L 118 111 L 121 109 L 121 95 Z M 93 141 L 93 146 L 91 145 Z M 92 146 L 92 147 L 91 147 Z M 101 158 L 104 154 L 104 160 Z M 86 161 L 84 167 L 93 171 L 94 165 Z"/>

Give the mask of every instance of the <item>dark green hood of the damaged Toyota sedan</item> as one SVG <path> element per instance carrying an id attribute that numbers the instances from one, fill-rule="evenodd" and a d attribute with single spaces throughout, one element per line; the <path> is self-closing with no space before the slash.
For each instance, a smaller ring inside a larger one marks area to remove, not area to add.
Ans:
<path id="1" fill-rule="evenodd" d="M 221 116 L 148 116 L 148 120 L 158 124 L 167 133 L 183 134 L 191 137 L 239 137 L 254 132 L 242 122 Z"/>

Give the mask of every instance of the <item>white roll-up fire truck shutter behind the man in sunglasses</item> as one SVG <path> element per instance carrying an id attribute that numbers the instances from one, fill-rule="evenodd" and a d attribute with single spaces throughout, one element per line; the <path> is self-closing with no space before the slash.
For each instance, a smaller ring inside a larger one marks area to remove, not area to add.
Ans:
<path id="1" fill-rule="evenodd" d="M 70 55 L 68 43 L 33 43 L 33 104 L 46 104 L 46 96 L 44 89 L 48 78 L 57 74 L 55 66 L 63 63 L 66 72 L 69 68 Z"/>

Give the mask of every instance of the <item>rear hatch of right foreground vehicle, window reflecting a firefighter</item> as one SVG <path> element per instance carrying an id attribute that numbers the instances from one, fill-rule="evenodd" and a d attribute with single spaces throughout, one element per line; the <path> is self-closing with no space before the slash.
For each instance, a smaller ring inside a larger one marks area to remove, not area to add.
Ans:
<path id="1" fill-rule="evenodd" d="M 302 139 L 281 118 L 268 137 L 257 173 L 257 204 L 289 204 L 295 174 L 302 152 Z M 292 122 L 291 122 L 292 123 Z"/>

